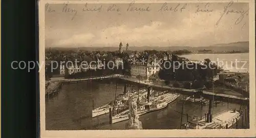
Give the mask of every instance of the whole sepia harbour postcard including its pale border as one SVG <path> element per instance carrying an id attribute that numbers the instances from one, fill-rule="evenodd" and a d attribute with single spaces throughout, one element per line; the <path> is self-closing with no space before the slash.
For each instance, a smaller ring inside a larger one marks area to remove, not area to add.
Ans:
<path id="1" fill-rule="evenodd" d="M 40 1 L 41 137 L 255 136 L 254 1 Z"/>

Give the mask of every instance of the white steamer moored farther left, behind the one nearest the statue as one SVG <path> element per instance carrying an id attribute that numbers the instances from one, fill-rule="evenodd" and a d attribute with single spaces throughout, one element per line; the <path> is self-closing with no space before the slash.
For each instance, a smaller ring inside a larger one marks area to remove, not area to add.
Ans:
<path id="1" fill-rule="evenodd" d="M 151 94 L 154 92 L 154 90 L 152 90 L 152 89 L 150 91 L 151 91 L 150 92 Z M 110 108 L 112 108 L 112 109 L 114 108 L 115 110 L 117 110 L 118 108 L 125 108 L 127 106 L 126 102 L 128 100 L 129 94 L 135 95 L 134 100 L 137 101 L 138 97 L 139 97 L 139 99 L 141 99 L 141 98 L 144 98 L 147 96 L 147 89 L 146 88 L 140 89 L 139 94 L 138 94 L 138 91 L 133 91 L 133 92 L 127 91 L 126 93 L 119 94 L 116 97 L 116 100 L 113 100 L 112 102 L 110 102 L 108 104 L 105 104 L 103 106 L 93 109 L 92 117 L 94 118 L 94 117 L 97 117 L 100 115 L 108 114 L 110 111 L 109 110 Z"/>

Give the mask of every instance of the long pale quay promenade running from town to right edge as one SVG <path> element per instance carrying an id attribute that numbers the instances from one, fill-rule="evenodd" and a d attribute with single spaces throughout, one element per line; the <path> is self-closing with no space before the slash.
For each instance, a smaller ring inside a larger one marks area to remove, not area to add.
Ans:
<path id="1" fill-rule="evenodd" d="M 184 88 L 174 88 L 174 87 L 169 87 L 169 86 L 160 86 L 160 85 L 155 85 L 151 82 L 145 82 L 145 81 L 139 81 L 136 80 L 135 78 L 131 78 L 131 77 L 120 77 L 121 79 L 127 80 L 127 81 L 132 81 L 132 82 L 136 82 L 136 83 L 140 83 L 146 86 L 151 86 L 153 88 L 160 88 L 160 89 L 167 89 L 167 90 L 178 90 L 181 92 L 189 92 L 189 93 L 197 93 L 198 90 L 196 89 L 184 89 Z M 231 99 L 238 99 L 238 100 L 245 100 L 248 101 L 249 98 L 244 98 L 243 96 L 239 96 L 239 95 L 230 95 L 230 94 L 222 94 L 222 93 L 214 93 L 214 92 L 209 92 L 206 90 L 202 91 L 204 95 L 208 95 L 208 96 L 219 96 L 219 97 L 224 97 L 224 98 L 231 98 Z"/>

